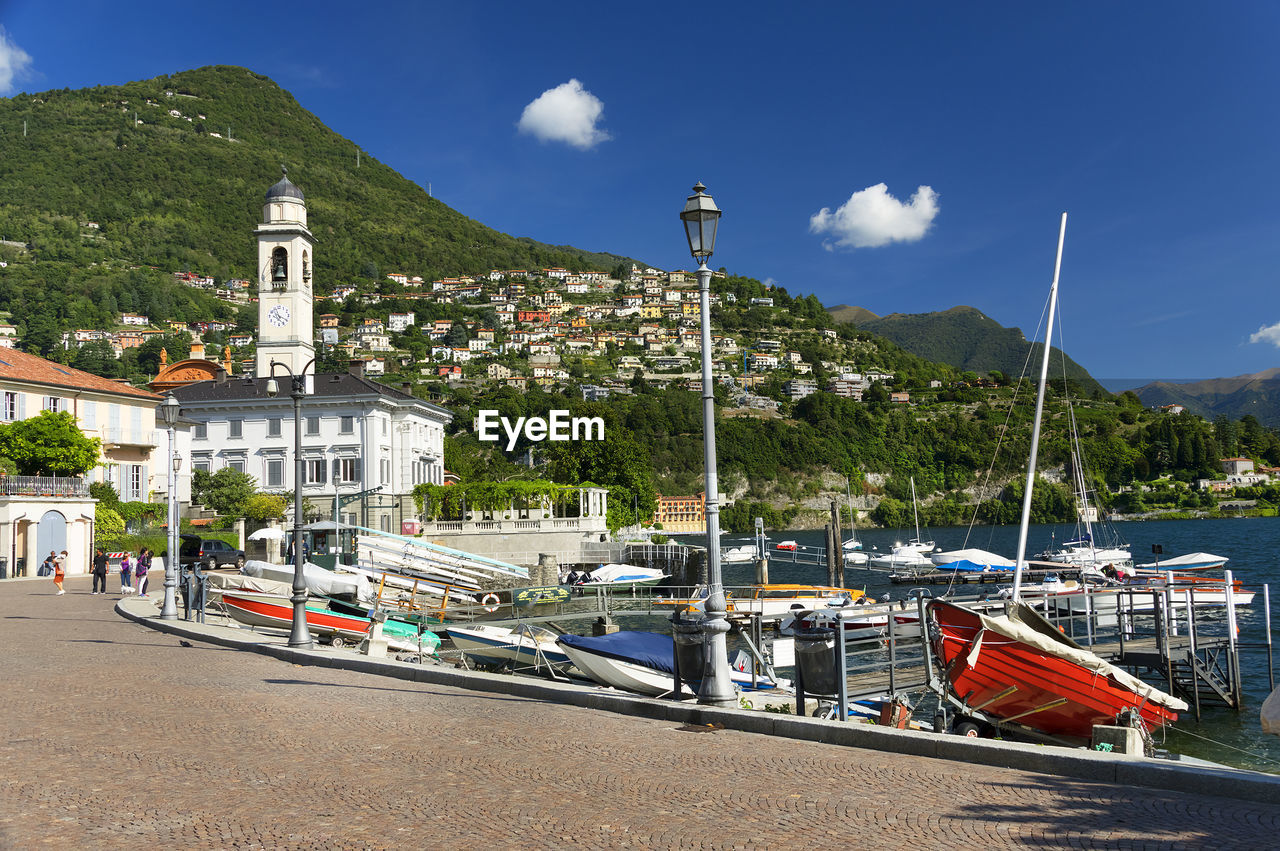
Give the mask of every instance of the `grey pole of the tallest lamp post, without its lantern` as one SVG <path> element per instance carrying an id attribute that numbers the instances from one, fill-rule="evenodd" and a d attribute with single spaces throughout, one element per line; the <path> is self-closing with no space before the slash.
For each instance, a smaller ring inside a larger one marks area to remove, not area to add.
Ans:
<path id="1" fill-rule="evenodd" d="M 721 582 L 719 561 L 719 480 L 716 473 L 716 388 L 712 378 L 712 270 L 707 261 L 698 267 L 698 292 L 701 307 L 703 331 L 703 450 L 707 467 L 707 614 L 703 618 L 703 683 L 698 690 L 698 703 L 714 706 L 732 706 L 733 683 L 728 673 L 728 655 L 724 636 L 724 587 Z"/>

